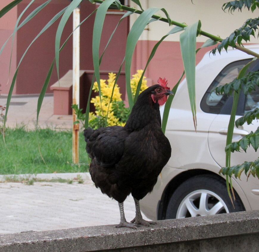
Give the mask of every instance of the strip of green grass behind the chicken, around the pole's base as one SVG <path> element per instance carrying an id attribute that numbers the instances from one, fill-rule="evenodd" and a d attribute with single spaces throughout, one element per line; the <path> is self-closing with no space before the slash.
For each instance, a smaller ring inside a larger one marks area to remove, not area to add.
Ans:
<path id="1" fill-rule="evenodd" d="M 7 128 L 5 142 L 6 145 L 0 135 L 0 174 L 88 171 L 88 158 L 82 132 L 79 134 L 79 165 L 72 163 L 72 131 Z"/>

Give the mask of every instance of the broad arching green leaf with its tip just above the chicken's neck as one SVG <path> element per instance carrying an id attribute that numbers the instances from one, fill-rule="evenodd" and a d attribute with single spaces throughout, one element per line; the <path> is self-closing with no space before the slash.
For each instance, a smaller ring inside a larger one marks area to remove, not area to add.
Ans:
<path id="1" fill-rule="evenodd" d="M 131 93 L 130 87 L 130 67 L 132 62 L 132 55 L 134 53 L 134 49 L 138 42 L 138 39 L 142 32 L 144 31 L 149 19 L 154 15 L 159 8 L 149 8 L 142 12 L 141 15 L 137 18 L 135 23 L 132 25 L 132 28 L 129 31 L 126 43 L 126 53 L 125 53 L 125 75 L 126 75 L 126 90 L 128 95 L 129 108 L 133 107 L 133 97 Z"/>

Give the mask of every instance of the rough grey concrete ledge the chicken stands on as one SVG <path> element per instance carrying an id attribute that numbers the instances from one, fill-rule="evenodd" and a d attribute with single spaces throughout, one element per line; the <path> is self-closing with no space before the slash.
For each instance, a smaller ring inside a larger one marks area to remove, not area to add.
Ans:
<path id="1" fill-rule="evenodd" d="M 178 220 L 156 226 L 115 225 L 0 235 L 1 252 L 259 250 L 259 210 Z"/>

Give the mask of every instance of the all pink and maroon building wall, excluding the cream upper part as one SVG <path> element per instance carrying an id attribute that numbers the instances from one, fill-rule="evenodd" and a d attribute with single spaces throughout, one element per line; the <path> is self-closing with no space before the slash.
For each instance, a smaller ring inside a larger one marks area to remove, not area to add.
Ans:
<path id="1" fill-rule="evenodd" d="M 0 8 L 8 4 L 10 0 L 2 0 Z M 32 10 L 38 7 L 43 1 L 35 1 L 29 9 L 25 12 L 26 17 Z M 18 6 L 13 8 L 6 16 L 0 19 L 0 45 L 3 45 L 5 40 L 12 34 L 15 21 L 18 15 L 28 4 L 27 1 L 23 1 Z M 0 84 L 1 94 L 7 94 L 10 89 L 10 83 L 12 76 L 16 70 L 17 64 L 20 61 L 21 56 L 26 50 L 27 46 L 34 39 L 34 37 L 40 32 L 45 24 L 60 10 L 66 7 L 68 3 L 66 1 L 54 0 L 47 5 L 45 10 L 39 12 L 29 23 L 22 27 L 15 36 L 12 62 L 10 68 L 10 79 L 8 82 L 9 62 L 11 53 L 11 40 L 7 43 L 6 48 L 0 56 Z M 82 1 L 80 5 L 81 20 L 86 18 L 96 6 L 88 1 Z M 100 45 L 100 54 L 102 53 L 110 34 L 114 30 L 116 24 L 122 15 L 116 15 L 113 11 L 110 11 L 106 16 L 102 40 Z M 91 16 L 80 27 L 80 69 L 81 70 L 93 70 L 92 59 L 92 32 L 93 32 L 94 15 Z M 13 94 L 37 94 L 40 93 L 46 74 L 54 59 L 54 41 L 57 26 L 59 20 L 54 23 L 47 31 L 45 31 L 29 48 L 23 62 L 19 67 L 19 72 L 16 80 L 16 85 Z M 28 32 L 29 31 L 29 32 Z M 72 31 L 72 17 L 69 18 L 66 24 L 63 35 L 61 37 L 61 45 L 65 39 L 71 34 Z M 118 68 L 123 60 L 125 54 L 125 46 L 127 40 L 127 34 L 129 31 L 129 19 L 125 18 L 119 25 L 107 51 L 102 59 L 100 70 L 107 72 L 117 72 Z M 157 43 L 153 40 L 140 40 L 135 48 L 132 71 L 134 74 L 136 70 L 143 69 L 152 48 Z M 202 42 L 197 42 L 197 48 L 202 45 Z M 198 63 L 205 52 L 210 51 L 213 47 L 201 49 L 196 56 L 196 63 Z M 60 53 L 60 78 L 72 69 L 72 37 L 68 40 L 67 45 Z M 122 72 L 124 71 L 124 66 Z M 149 64 L 145 76 L 148 78 L 148 84 L 156 84 L 159 77 L 167 78 L 169 85 L 173 87 L 180 78 L 183 71 L 183 64 L 180 52 L 179 42 L 164 41 L 160 44 L 157 52 Z M 54 67 L 54 71 L 50 80 L 47 93 L 53 92 L 50 90 L 50 86 L 57 81 L 57 71 Z M 8 83 L 8 84 L 7 84 Z M 121 92 L 125 97 L 125 82 L 120 83 Z M 85 94 L 86 96 L 86 94 Z"/>

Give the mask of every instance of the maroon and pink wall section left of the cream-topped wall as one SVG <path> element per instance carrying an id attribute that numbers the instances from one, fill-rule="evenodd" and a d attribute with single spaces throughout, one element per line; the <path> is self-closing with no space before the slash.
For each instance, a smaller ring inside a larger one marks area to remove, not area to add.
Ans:
<path id="1" fill-rule="evenodd" d="M 3 2 L 2 2 L 3 1 Z M 3 8 L 10 3 L 10 0 L 2 0 L 0 7 Z M 22 20 L 32 12 L 36 7 L 42 4 L 43 0 L 37 0 L 24 13 Z M 18 4 L 6 16 L 0 19 L 0 45 L 3 45 L 7 38 L 12 34 L 17 17 L 21 14 L 29 1 L 25 0 Z M 8 82 L 8 71 L 11 53 L 11 41 L 8 42 L 2 55 L 0 56 L 0 84 L 1 94 L 7 94 L 10 89 L 10 83 L 15 73 L 16 67 L 29 46 L 30 42 L 37 36 L 46 23 L 54 17 L 56 13 L 69 4 L 68 0 L 53 0 L 43 10 L 41 10 L 32 20 L 18 30 L 13 45 L 12 64 L 10 80 Z M 88 1 L 82 1 L 80 4 L 80 19 L 85 19 L 96 8 L 95 4 Z M 102 40 L 100 44 L 100 55 L 104 50 L 110 34 L 113 32 L 116 24 L 124 13 L 114 14 L 108 11 L 105 18 Z M 80 69 L 93 70 L 92 58 L 92 33 L 95 16 L 92 15 L 80 27 Z M 21 20 L 21 21 L 22 21 Z M 20 21 L 20 22 L 21 22 Z M 57 20 L 48 30 L 46 30 L 29 48 L 21 65 L 19 67 L 15 88 L 13 94 L 38 94 L 41 91 L 49 67 L 55 56 L 54 41 L 57 27 Z M 127 34 L 129 30 L 129 18 L 125 18 L 119 25 L 111 44 L 108 46 L 102 59 L 100 70 L 108 72 L 117 72 L 125 54 Z M 68 19 L 61 37 L 61 45 L 72 32 L 72 15 Z M 59 76 L 62 78 L 68 70 L 72 69 L 72 37 L 68 40 L 65 48 L 60 52 Z M 124 68 L 122 69 L 124 71 Z M 47 93 L 53 92 L 50 86 L 57 81 L 57 71 L 54 67 L 50 79 Z M 8 83 L 8 84 L 7 84 Z M 6 85 L 7 84 L 7 85 Z M 125 82 L 121 84 L 121 91 L 125 95 Z"/>

